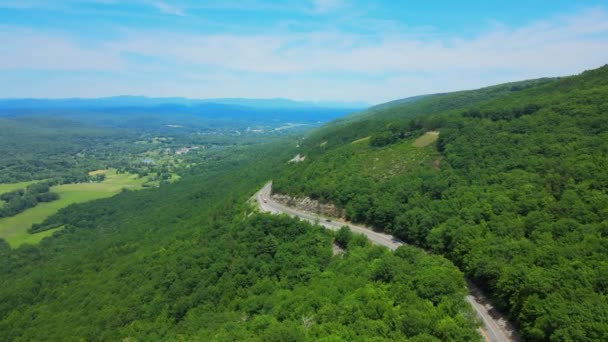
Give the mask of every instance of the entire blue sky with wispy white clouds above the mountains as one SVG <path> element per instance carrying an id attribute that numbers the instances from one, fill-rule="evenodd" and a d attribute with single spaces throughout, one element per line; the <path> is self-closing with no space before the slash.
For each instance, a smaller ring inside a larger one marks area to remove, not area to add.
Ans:
<path id="1" fill-rule="evenodd" d="M 608 63 L 607 1 L 0 0 L 0 97 L 379 103 Z"/>

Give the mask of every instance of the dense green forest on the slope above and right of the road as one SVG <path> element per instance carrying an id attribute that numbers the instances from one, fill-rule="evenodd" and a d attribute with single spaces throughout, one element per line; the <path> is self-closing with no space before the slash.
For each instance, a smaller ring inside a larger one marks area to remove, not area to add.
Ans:
<path id="1" fill-rule="evenodd" d="M 607 115 L 603 67 L 422 117 L 439 123 L 435 146 L 374 143 L 383 118 L 357 133 L 367 145 L 313 136 L 274 187 L 448 256 L 526 339 L 608 340 Z"/>

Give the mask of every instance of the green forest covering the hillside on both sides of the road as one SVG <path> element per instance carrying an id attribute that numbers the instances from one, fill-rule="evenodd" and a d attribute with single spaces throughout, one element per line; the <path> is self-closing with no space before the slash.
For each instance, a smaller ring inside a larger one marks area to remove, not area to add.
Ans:
<path id="1" fill-rule="evenodd" d="M 331 232 L 246 204 L 274 178 L 448 257 L 528 340 L 606 340 L 607 98 L 608 67 L 426 96 L 298 149 L 207 154 L 175 184 L 64 208 L 39 246 L 0 240 L 0 339 L 480 339 L 450 261 L 348 231 L 332 256 Z M 414 146 L 431 130 L 435 143 Z M 285 163 L 296 153 L 307 158 Z"/>

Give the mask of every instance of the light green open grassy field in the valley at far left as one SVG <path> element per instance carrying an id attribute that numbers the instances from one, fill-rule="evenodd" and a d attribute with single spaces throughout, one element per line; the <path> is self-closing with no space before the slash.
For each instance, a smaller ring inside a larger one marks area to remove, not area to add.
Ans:
<path id="1" fill-rule="evenodd" d="M 111 197 L 123 188 L 140 189 L 146 178 L 137 178 L 132 174 L 116 174 L 115 170 L 98 170 L 94 174 L 105 174 L 106 179 L 101 183 L 77 183 L 57 185 L 51 191 L 59 194 L 59 199 L 53 202 L 40 203 L 34 208 L 25 210 L 12 217 L 0 219 L 0 238 L 5 239 L 12 247 L 24 243 L 35 244 L 43 238 L 52 235 L 60 228 L 30 234 L 27 230 L 34 223 L 41 223 L 47 217 L 55 214 L 59 209 L 70 204 L 92 201 Z"/>

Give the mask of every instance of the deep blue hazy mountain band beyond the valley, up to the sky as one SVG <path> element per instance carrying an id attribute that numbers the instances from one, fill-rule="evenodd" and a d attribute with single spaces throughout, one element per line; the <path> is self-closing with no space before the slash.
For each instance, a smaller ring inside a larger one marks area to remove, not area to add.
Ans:
<path id="1" fill-rule="evenodd" d="M 101 127 L 182 131 L 249 126 L 278 127 L 287 123 L 318 126 L 353 112 L 360 103 L 303 102 L 287 99 L 205 99 L 116 96 L 96 99 L 0 99 L 0 118 L 67 119 Z M 46 121 L 45 121 L 46 122 Z M 169 129 L 173 130 L 173 129 Z"/>

